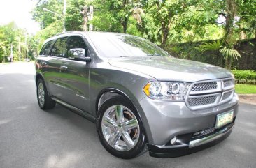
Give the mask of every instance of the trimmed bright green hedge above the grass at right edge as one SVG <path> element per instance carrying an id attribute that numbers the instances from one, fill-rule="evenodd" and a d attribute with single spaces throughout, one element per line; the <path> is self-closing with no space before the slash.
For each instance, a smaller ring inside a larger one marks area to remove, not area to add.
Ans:
<path id="1" fill-rule="evenodd" d="M 256 84 L 256 72 L 254 70 L 232 70 L 238 84 Z"/>

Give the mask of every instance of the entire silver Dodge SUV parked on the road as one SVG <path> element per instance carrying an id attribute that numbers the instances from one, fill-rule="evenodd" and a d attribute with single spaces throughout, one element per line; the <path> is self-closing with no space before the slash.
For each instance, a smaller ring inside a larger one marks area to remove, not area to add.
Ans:
<path id="1" fill-rule="evenodd" d="M 36 60 L 38 105 L 55 102 L 94 121 L 119 158 L 194 153 L 232 131 L 239 98 L 234 75 L 176 59 L 122 33 L 67 32 L 49 38 Z"/>

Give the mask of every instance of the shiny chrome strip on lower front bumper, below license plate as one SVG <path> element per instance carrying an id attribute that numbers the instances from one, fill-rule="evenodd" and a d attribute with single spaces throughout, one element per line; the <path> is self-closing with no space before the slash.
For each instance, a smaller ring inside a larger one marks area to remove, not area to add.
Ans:
<path id="1" fill-rule="evenodd" d="M 234 125 L 232 125 L 232 128 L 234 127 Z M 226 135 L 228 132 L 232 131 L 232 128 L 224 128 L 223 130 L 220 130 L 219 132 L 216 132 L 213 135 L 209 135 L 207 137 L 201 138 L 201 139 L 195 139 L 193 141 L 190 141 L 190 145 L 189 148 L 193 148 L 196 146 L 200 146 L 202 144 L 207 144 L 209 142 L 214 141 L 215 139 L 218 139 L 224 135 Z"/>

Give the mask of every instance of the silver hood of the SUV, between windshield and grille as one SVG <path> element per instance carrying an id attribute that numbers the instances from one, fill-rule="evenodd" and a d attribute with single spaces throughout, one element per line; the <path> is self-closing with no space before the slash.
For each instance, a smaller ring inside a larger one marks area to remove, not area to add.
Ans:
<path id="1" fill-rule="evenodd" d="M 225 68 L 171 56 L 121 57 L 109 59 L 108 63 L 111 66 L 134 70 L 164 81 L 196 82 L 234 77 Z"/>

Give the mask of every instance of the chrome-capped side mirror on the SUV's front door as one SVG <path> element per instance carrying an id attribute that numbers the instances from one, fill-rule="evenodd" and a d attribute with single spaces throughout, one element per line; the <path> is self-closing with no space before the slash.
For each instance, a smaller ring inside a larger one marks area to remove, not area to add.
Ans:
<path id="1" fill-rule="evenodd" d="M 90 62 L 90 57 L 85 57 L 85 49 L 83 48 L 75 48 L 69 50 L 69 59 L 73 59 L 76 61 L 85 61 Z"/>

